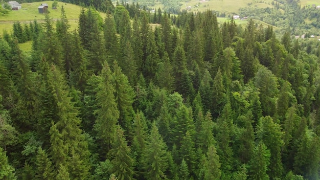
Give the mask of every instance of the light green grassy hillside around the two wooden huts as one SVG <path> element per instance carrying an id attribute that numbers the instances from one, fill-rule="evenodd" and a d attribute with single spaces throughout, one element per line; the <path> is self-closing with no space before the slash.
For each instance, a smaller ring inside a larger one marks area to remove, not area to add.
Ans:
<path id="1" fill-rule="evenodd" d="M 49 5 L 49 15 L 54 20 L 60 18 L 61 6 L 63 6 L 66 17 L 70 22 L 71 29 L 74 29 L 78 26 L 77 20 L 82 9 L 81 6 L 58 2 L 59 7 L 57 9 L 52 9 L 51 5 L 53 1 L 23 3 L 21 4 L 22 9 L 18 11 L 10 11 L 9 14 L 0 16 L 0 35 L 2 35 L 3 30 L 10 32 L 14 21 L 29 23 L 30 21 L 37 19 L 41 22 L 45 16 L 44 14 L 40 14 L 38 12 L 38 6 L 41 3 L 47 3 Z M 100 15 L 101 17 L 105 17 L 105 13 L 100 13 Z"/>

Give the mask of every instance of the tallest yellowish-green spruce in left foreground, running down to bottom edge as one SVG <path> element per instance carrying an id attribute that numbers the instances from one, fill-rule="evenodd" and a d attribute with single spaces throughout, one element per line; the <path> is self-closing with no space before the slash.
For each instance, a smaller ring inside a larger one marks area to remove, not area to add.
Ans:
<path id="1" fill-rule="evenodd" d="M 80 129 L 78 110 L 71 102 L 65 80 L 59 70 L 52 67 L 49 75 L 54 81 L 57 97 L 58 120 L 50 129 L 51 154 L 56 170 L 61 164 L 71 179 L 87 178 L 90 169 L 88 144 Z M 58 170 L 59 171 L 59 170 Z"/>

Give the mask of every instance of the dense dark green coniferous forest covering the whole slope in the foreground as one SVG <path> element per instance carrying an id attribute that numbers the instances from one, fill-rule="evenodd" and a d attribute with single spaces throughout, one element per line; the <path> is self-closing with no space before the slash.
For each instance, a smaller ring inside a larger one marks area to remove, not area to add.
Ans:
<path id="1" fill-rule="evenodd" d="M 108 8 L 0 39 L 0 179 L 319 179 L 319 42 Z"/>

